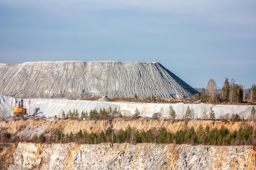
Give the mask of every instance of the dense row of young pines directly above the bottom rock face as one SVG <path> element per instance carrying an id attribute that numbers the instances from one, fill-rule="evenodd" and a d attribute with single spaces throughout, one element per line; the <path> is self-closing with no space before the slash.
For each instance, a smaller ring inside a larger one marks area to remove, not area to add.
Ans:
<path id="1" fill-rule="evenodd" d="M 135 130 L 129 124 L 124 129 L 114 132 L 109 127 L 105 132 L 88 132 L 87 130 L 79 130 L 76 133 L 70 132 L 63 134 L 61 131 L 52 133 L 50 137 L 44 134 L 34 135 L 33 139 L 26 141 L 40 143 L 69 143 L 77 144 L 100 144 L 106 142 L 112 143 L 156 143 L 156 144 L 204 144 L 204 145 L 252 145 L 255 144 L 256 131 L 253 133 L 253 127 L 249 124 L 240 126 L 238 130 L 231 131 L 225 126 L 220 129 L 210 129 L 207 124 L 205 127 L 200 125 L 197 129 L 193 126 L 189 129 L 181 129 L 177 132 L 169 132 L 166 128 L 160 130 Z M 13 139 L 14 141 L 19 139 Z M 11 134 L 4 134 L 4 141 L 11 142 Z"/>

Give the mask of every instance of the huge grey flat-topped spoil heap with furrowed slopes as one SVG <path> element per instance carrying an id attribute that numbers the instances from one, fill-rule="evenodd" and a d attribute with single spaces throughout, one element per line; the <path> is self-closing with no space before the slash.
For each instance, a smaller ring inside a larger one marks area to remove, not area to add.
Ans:
<path id="1" fill-rule="evenodd" d="M 16 98 L 192 98 L 198 93 L 157 62 L 26 62 L 0 64 L 0 93 Z"/>

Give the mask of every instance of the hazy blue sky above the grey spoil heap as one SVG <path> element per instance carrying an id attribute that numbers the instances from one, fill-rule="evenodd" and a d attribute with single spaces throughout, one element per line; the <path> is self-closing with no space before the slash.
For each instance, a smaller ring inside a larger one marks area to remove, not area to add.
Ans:
<path id="1" fill-rule="evenodd" d="M 0 1 L 0 63 L 156 61 L 194 88 L 250 88 L 255 58 L 255 0 Z"/>

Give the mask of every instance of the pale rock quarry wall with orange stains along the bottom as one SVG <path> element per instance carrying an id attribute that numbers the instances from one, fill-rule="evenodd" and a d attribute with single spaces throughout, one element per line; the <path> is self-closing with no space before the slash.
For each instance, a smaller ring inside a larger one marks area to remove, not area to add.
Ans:
<path id="1" fill-rule="evenodd" d="M 7 170 L 255 170 L 252 146 L 19 143 Z"/>

